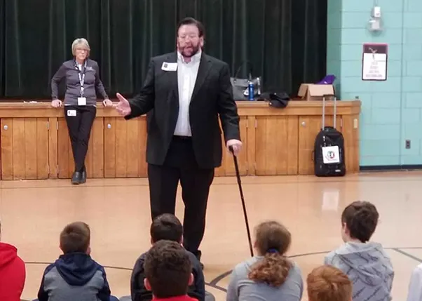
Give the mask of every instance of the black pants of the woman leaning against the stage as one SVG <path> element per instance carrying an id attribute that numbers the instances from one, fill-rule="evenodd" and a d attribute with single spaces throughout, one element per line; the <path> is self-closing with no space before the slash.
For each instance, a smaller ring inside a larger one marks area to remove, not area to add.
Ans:
<path id="1" fill-rule="evenodd" d="M 72 116 L 74 112 L 69 111 L 76 111 L 76 116 Z M 97 108 L 94 106 L 64 106 L 64 116 L 72 143 L 75 171 L 82 171 L 85 168 L 88 142 L 96 114 Z"/>

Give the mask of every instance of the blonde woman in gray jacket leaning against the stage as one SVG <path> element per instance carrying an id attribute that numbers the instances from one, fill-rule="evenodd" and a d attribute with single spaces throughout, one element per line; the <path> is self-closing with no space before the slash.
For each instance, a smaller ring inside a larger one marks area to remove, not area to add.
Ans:
<path id="1" fill-rule="evenodd" d="M 66 80 L 66 94 L 64 95 L 64 117 L 72 142 L 75 171 L 72 184 L 86 182 L 85 158 L 88 152 L 88 142 L 91 128 L 97 114 L 97 93 L 102 95 L 104 107 L 112 107 L 100 80 L 100 68 L 95 60 L 89 57 L 90 46 L 86 39 L 76 39 L 72 43 L 74 58 L 63 62 L 51 79 L 51 105 L 62 107 L 58 98 L 59 83 Z"/>

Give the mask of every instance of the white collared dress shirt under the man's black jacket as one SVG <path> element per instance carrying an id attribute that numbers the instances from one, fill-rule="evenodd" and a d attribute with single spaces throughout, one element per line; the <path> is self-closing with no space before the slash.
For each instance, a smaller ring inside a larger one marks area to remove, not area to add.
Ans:
<path id="1" fill-rule="evenodd" d="M 201 51 L 193 55 L 190 62 L 185 62 L 182 54 L 177 52 L 177 86 L 179 88 L 179 116 L 175 128 L 175 135 L 191 136 L 189 123 L 189 104 L 193 88 L 198 75 Z"/>

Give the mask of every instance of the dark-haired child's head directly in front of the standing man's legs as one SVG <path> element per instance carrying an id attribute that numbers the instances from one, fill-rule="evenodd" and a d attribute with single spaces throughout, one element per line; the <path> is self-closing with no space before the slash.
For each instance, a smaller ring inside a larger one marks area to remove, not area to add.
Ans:
<path id="1" fill-rule="evenodd" d="M 175 215 L 164 213 L 153 220 L 149 233 L 153 243 L 163 239 L 180 243 L 183 226 Z"/>

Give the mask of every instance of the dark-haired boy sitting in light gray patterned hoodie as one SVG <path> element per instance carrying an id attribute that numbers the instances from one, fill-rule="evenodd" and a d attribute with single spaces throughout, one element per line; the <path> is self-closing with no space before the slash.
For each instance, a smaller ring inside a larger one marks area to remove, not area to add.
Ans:
<path id="1" fill-rule="evenodd" d="M 390 301 L 394 270 L 380 243 L 370 242 L 379 213 L 372 203 L 355 201 L 341 215 L 343 246 L 325 257 L 353 283 L 353 301 Z"/>

